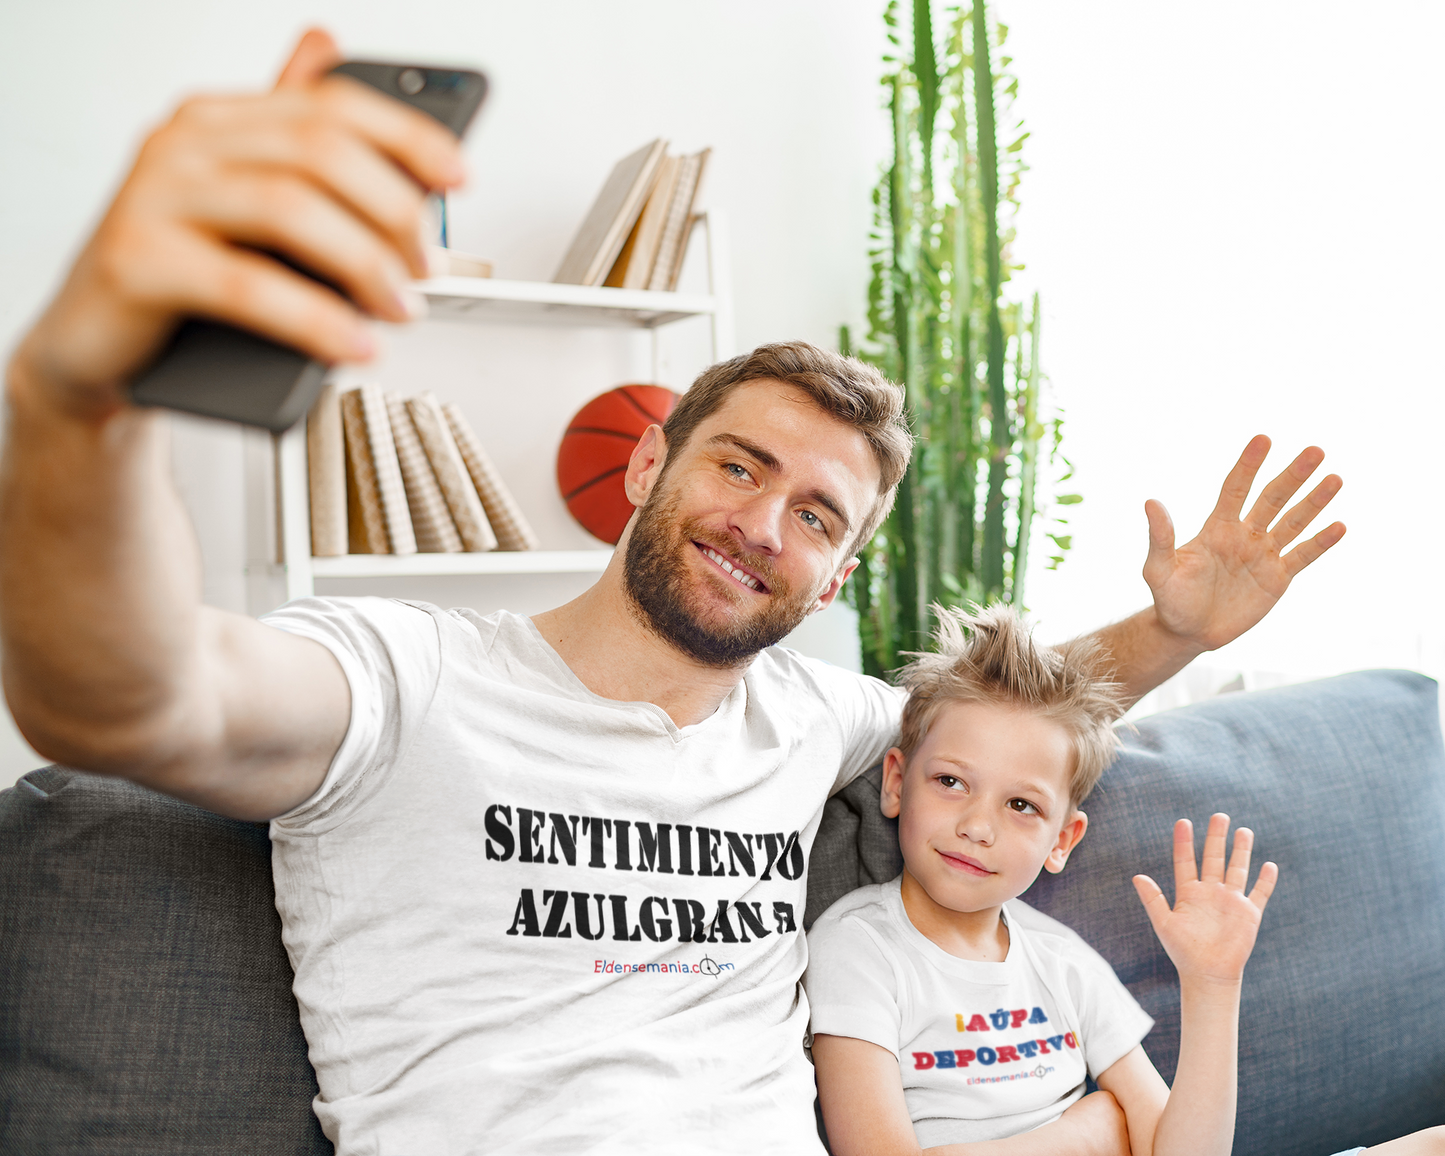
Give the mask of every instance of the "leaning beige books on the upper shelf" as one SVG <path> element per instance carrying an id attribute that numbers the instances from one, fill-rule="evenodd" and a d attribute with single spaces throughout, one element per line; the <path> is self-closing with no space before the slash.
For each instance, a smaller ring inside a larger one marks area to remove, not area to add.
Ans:
<path id="1" fill-rule="evenodd" d="M 655 140 L 618 160 L 552 280 L 676 289 L 709 152 L 668 156 Z"/>

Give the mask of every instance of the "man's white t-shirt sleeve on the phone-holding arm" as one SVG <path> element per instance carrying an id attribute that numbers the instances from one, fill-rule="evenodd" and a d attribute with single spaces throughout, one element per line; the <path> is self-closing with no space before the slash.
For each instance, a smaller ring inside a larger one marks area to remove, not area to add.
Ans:
<path id="1" fill-rule="evenodd" d="M 394 598 L 299 598 L 262 621 L 325 646 L 351 689 L 347 734 L 321 788 L 273 819 L 298 832 L 329 829 L 371 793 L 429 707 L 441 676 L 436 621 L 431 607 Z"/>

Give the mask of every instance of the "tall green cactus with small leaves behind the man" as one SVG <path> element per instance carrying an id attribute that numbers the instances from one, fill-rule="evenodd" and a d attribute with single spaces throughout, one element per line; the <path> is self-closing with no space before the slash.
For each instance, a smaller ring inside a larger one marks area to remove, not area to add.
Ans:
<path id="1" fill-rule="evenodd" d="M 1009 58 L 994 65 L 1007 29 L 985 0 L 949 13 L 938 43 L 933 0 L 887 4 L 893 156 L 874 191 L 867 340 L 840 334 L 905 386 L 919 436 L 848 584 L 876 675 L 926 644 L 933 603 L 1022 603 L 1040 467 L 1058 451 L 1059 423 L 1039 418 L 1038 295 L 1027 309 L 1004 295 L 1027 136 L 998 147 L 1016 88 Z"/>

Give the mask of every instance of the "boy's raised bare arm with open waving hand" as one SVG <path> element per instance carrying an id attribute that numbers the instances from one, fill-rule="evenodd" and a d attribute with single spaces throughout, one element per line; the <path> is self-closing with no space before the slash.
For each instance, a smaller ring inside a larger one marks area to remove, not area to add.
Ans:
<path id="1" fill-rule="evenodd" d="M 1194 828 L 1175 824 L 1175 906 L 1147 876 L 1134 877 L 1149 922 L 1179 970 L 1179 1066 L 1166 1091 L 1159 1072 L 1134 1048 L 1098 1077 L 1129 1118 L 1134 1156 L 1228 1156 L 1234 1144 L 1238 1084 L 1240 988 L 1260 916 L 1279 868 L 1266 863 L 1254 890 L 1244 884 L 1254 835 L 1240 828 L 1225 866 L 1227 815 L 1214 815 L 1199 871 Z"/>

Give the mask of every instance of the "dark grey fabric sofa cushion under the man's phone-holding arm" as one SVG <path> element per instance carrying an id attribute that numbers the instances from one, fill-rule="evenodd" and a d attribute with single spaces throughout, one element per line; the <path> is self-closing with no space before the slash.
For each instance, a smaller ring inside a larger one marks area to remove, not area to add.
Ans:
<path id="1" fill-rule="evenodd" d="M 331 1153 L 266 827 L 48 767 L 0 792 L 0 1152 Z"/>

